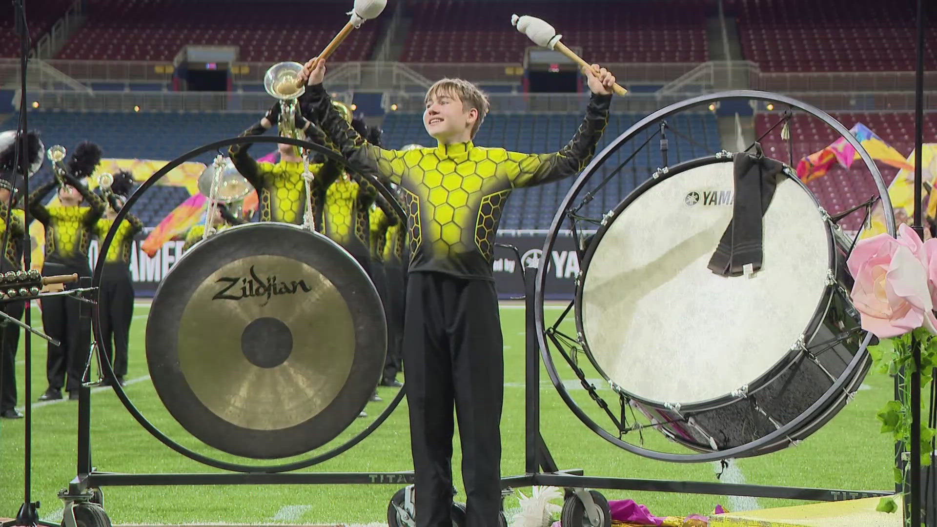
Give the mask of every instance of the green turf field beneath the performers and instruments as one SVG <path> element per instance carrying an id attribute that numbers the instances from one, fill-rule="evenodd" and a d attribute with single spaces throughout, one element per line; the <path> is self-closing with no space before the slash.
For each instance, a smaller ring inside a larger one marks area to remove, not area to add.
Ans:
<path id="1" fill-rule="evenodd" d="M 147 377 L 143 335 L 148 307 L 138 305 L 131 330 L 130 370 L 126 392 L 159 429 L 173 439 L 203 454 L 218 459 L 260 464 L 253 460 L 235 459 L 201 444 L 189 436 L 171 418 Z M 38 310 L 34 309 L 38 315 Z M 556 317 L 550 309 L 548 316 Z M 523 309 L 503 307 L 501 322 L 504 332 L 505 392 L 501 421 L 503 458 L 502 474 L 523 472 L 524 432 L 524 327 Z M 46 388 L 45 341 L 33 339 L 33 399 Z M 688 347 L 692 353 L 692 346 Z M 18 387 L 20 405 L 23 401 L 22 347 L 17 356 L 20 369 Z M 731 368 L 731 365 L 726 365 Z M 562 365 L 561 375 L 578 384 L 569 368 Z M 662 374 L 665 372 L 662 372 Z M 717 481 L 717 463 L 670 464 L 635 457 L 606 443 L 589 431 L 559 399 L 543 372 L 542 427 L 543 437 L 551 448 L 560 468 L 582 468 L 586 474 Z M 587 376 L 598 379 L 594 371 Z M 599 384 L 596 381 L 596 384 Z M 600 384 L 601 385 L 601 384 Z M 748 482 L 763 485 L 791 485 L 840 489 L 891 489 L 893 446 L 880 434 L 875 411 L 890 399 L 892 384 L 888 378 L 870 374 L 862 389 L 836 418 L 824 429 L 796 447 L 755 459 L 733 461 L 722 476 L 731 483 Z M 603 394 L 610 396 L 608 390 Z M 331 445 L 364 428 L 370 418 L 379 414 L 394 395 L 393 388 L 380 388 L 383 403 L 370 403 L 368 419 L 359 419 L 351 429 Z M 573 390 L 600 423 L 602 413 L 582 389 Z M 98 470 L 118 473 L 217 472 L 195 461 L 175 454 L 160 444 L 133 420 L 108 388 L 97 388 L 93 395 L 94 461 Z M 611 401 L 612 398 L 609 397 Z M 400 408 L 370 437 L 349 452 L 312 469 L 322 472 L 391 472 L 411 470 L 409 430 L 404 402 Z M 55 401 L 35 408 L 33 440 L 33 499 L 40 500 L 43 519 L 61 518 L 61 502 L 55 494 L 75 475 L 77 402 Z M 22 503 L 22 430 L 23 420 L 0 420 L 0 517 L 14 516 Z M 662 436 L 644 432 L 647 446 L 674 449 Z M 457 440 L 456 440 L 457 441 Z M 634 438 L 633 441 L 637 441 Z M 324 452 L 326 445 L 317 452 Z M 455 445 L 458 452 L 458 444 Z M 277 462 L 285 461 L 278 460 Z M 456 453 L 454 474 L 460 490 L 460 459 Z M 138 523 L 368 523 L 386 521 L 387 502 L 399 485 L 368 486 L 223 486 L 223 487 L 136 487 L 105 488 L 104 502 L 115 524 Z M 525 489 L 526 491 L 527 489 Z M 648 492 L 606 491 L 609 499 L 632 498 L 647 504 L 659 516 L 711 512 L 716 504 L 729 510 L 799 504 L 794 501 L 734 498 L 726 496 L 692 496 Z M 458 499 L 459 496 L 456 497 Z M 509 499 L 507 508 L 516 505 Z"/>

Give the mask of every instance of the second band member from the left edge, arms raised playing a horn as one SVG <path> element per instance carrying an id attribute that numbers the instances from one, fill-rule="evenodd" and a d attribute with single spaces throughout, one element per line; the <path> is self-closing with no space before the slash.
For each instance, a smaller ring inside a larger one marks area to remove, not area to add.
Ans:
<path id="1" fill-rule="evenodd" d="M 101 149 L 97 144 L 79 144 L 67 169 L 53 168 L 62 178 L 62 184 L 53 178 L 29 196 L 29 213 L 45 226 L 43 275 L 91 276 L 88 246 L 95 224 L 104 214 L 104 202 L 87 188 L 82 178 L 94 173 L 100 160 Z M 43 205 L 42 199 L 56 187 L 61 204 Z M 82 202 L 89 206 L 79 206 Z M 74 283 L 67 284 L 66 289 L 74 287 Z M 59 340 L 61 345 L 55 346 L 52 342 L 48 345 L 49 388 L 39 400 L 62 399 L 63 386 L 68 391 L 68 399 L 78 399 L 84 363 L 91 350 L 91 322 L 82 320 L 78 300 L 52 296 L 42 300 L 42 325 L 46 334 Z"/>

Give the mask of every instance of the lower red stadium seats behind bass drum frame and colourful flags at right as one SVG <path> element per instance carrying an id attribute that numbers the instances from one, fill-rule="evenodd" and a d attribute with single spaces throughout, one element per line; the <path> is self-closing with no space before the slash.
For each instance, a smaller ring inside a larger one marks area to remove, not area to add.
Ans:
<path id="1" fill-rule="evenodd" d="M 852 128 L 856 123 L 866 125 L 902 156 L 910 155 L 915 148 L 914 113 L 840 113 L 834 117 L 846 128 Z M 755 132 L 761 136 L 777 123 L 778 119 L 777 114 L 757 115 Z M 775 128 L 762 140 L 762 146 L 768 156 L 787 162 L 787 142 L 781 140 L 780 130 L 781 127 Z M 824 148 L 839 137 L 836 131 L 818 119 L 809 115 L 796 115 L 791 123 L 794 166 L 800 158 Z M 937 113 L 925 114 L 924 143 L 937 143 Z M 878 163 L 878 167 L 886 185 L 891 183 L 898 173 L 898 169 L 884 163 Z M 862 161 L 855 161 L 849 170 L 836 165 L 807 186 L 830 214 L 841 212 L 877 195 L 869 170 Z M 856 229 L 861 221 L 861 213 L 855 213 L 845 218 L 841 224 L 846 229 Z"/>

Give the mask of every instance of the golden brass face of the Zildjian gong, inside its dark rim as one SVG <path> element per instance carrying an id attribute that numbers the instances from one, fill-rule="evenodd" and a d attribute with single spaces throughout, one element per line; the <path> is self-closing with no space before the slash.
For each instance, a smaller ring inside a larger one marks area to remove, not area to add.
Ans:
<path id="1" fill-rule="evenodd" d="M 201 283 L 183 311 L 179 343 L 182 372 L 202 404 L 240 427 L 273 430 L 335 399 L 348 380 L 354 330 L 345 300 L 319 271 L 260 255 Z"/>

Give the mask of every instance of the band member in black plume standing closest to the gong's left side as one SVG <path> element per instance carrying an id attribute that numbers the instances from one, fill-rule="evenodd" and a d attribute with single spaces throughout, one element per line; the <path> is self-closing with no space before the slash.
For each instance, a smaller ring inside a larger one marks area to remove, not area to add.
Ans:
<path id="1" fill-rule="evenodd" d="M 113 174 L 111 191 L 107 193 L 107 212 L 104 218 L 97 220 L 95 233 L 99 241 L 104 241 L 111 230 L 114 218 L 126 203 L 126 198 L 133 189 L 133 175 L 120 171 Z M 130 253 L 133 250 L 133 238 L 143 230 L 143 222 L 132 214 L 127 214 L 108 248 L 101 275 L 101 288 L 98 300 L 98 320 L 103 342 L 100 350 L 107 354 L 117 382 L 124 385 L 127 365 L 127 347 L 130 338 L 130 323 L 133 321 L 133 280 L 130 279 Z M 110 384 L 105 379 L 102 383 Z"/>

